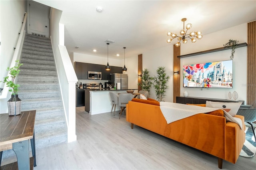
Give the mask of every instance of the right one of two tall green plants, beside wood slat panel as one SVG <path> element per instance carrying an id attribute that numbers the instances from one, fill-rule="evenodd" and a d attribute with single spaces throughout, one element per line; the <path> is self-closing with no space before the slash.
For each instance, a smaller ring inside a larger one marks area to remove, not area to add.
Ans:
<path id="1" fill-rule="evenodd" d="M 162 101 L 165 96 L 165 90 L 168 89 L 167 82 L 169 81 L 170 76 L 166 75 L 165 67 L 158 67 L 156 73 L 157 76 L 153 78 L 153 87 L 156 90 L 156 99 L 158 99 L 158 101 Z"/>

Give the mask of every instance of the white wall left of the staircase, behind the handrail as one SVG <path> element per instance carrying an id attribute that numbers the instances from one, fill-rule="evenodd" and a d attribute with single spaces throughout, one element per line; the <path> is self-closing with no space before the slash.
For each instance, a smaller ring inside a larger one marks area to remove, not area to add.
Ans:
<path id="1" fill-rule="evenodd" d="M 24 12 L 27 11 L 26 1 L 0 1 L 0 80 L 6 77 L 10 67 L 14 47 L 18 40 L 19 32 L 24 19 Z M 4 87 L 4 83 L 0 83 Z M 0 100 L 0 113 L 7 113 L 7 101 L 10 98 Z"/>

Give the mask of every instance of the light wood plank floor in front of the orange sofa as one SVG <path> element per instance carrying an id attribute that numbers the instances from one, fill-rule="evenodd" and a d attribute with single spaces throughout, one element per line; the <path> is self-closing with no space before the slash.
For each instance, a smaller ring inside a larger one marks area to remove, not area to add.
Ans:
<path id="1" fill-rule="evenodd" d="M 36 150 L 35 170 L 52 169 L 167 169 L 214 170 L 217 158 L 115 117 L 110 113 L 89 115 L 76 108 L 77 141 Z M 15 162 L 2 160 L 2 165 Z M 223 169 L 256 169 L 256 156 L 240 156 L 236 164 L 223 161 Z"/>

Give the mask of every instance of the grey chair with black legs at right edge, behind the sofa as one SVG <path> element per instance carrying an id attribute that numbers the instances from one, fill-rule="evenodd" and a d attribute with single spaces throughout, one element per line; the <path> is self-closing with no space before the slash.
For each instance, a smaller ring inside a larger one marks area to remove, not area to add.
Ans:
<path id="1" fill-rule="evenodd" d="M 244 121 L 251 125 L 254 139 L 256 141 L 254 127 L 252 125 L 252 122 L 256 121 L 256 108 L 253 108 L 253 105 L 241 105 L 236 115 L 244 116 Z"/>

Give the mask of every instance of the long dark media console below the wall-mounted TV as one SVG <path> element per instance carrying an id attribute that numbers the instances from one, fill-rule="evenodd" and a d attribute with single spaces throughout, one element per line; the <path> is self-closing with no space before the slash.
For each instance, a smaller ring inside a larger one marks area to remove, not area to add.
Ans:
<path id="1" fill-rule="evenodd" d="M 243 100 L 228 100 L 228 99 L 213 99 L 213 98 L 204 98 L 204 97 L 184 97 L 184 96 L 177 96 L 176 97 L 176 103 L 182 103 L 182 104 L 205 104 L 206 101 L 215 101 L 215 102 L 242 102 L 242 105 L 244 105 Z"/>

